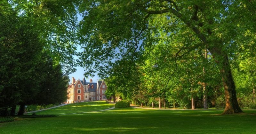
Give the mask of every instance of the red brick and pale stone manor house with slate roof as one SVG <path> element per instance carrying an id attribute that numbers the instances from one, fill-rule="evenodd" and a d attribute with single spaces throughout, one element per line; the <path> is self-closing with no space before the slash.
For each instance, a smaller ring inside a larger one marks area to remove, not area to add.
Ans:
<path id="1" fill-rule="evenodd" d="M 72 83 L 68 86 L 67 103 L 89 102 L 97 100 L 106 100 L 105 92 L 107 85 L 105 81 L 86 82 L 85 79 L 78 80 L 72 77 Z"/>

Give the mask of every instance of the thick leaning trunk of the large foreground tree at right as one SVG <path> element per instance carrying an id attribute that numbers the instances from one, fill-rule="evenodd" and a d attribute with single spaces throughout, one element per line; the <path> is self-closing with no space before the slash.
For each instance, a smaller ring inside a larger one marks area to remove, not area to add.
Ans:
<path id="1" fill-rule="evenodd" d="M 236 86 L 228 62 L 228 55 L 217 47 L 212 47 L 208 50 L 213 54 L 213 58 L 219 66 L 222 77 L 226 100 L 226 107 L 222 114 L 242 113 L 243 111 L 240 109 L 236 98 Z"/>

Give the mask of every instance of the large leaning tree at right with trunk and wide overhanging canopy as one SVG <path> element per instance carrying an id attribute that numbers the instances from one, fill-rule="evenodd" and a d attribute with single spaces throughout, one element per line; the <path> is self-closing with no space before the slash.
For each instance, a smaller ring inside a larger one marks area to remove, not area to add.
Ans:
<path id="1" fill-rule="evenodd" d="M 84 13 L 79 34 L 83 37 L 81 43 L 86 45 L 86 50 L 91 50 L 89 53 L 94 54 L 95 59 L 100 59 L 102 55 L 105 57 L 111 55 L 111 50 L 116 47 L 124 48 L 127 44 L 131 45 L 131 42 L 134 49 L 143 49 L 139 41 L 145 40 L 146 34 L 154 30 L 155 26 L 149 26 L 151 21 L 162 24 L 162 31 L 169 32 L 169 35 L 179 36 L 180 29 L 187 29 L 188 36 L 196 38 L 197 41 L 192 45 L 180 44 L 176 52 L 183 55 L 191 50 L 207 46 L 216 60 L 225 89 L 226 108 L 223 114 L 239 113 L 242 110 L 237 103 L 229 54 L 235 51 L 234 48 L 241 48 L 241 44 L 236 42 L 238 38 L 241 38 L 239 33 L 245 33 L 250 29 L 248 26 L 240 28 L 241 25 L 245 25 L 244 20 L 247 20 L 246 24 L 251 25 L 255 19 L 249 16 L 250 10 L 253 10 L 251 5 L 255 6 L 253 2 L 243 0 L 83 2 L 79 7 L 79 11 Z M 248 18 L 238 19 L 241 17 L 238 11 Z M 176 21 L 160 22 L 154 19 L 154 16 L 158 14 Z M 92 51 L 95 48 L 98 55 Z"/>

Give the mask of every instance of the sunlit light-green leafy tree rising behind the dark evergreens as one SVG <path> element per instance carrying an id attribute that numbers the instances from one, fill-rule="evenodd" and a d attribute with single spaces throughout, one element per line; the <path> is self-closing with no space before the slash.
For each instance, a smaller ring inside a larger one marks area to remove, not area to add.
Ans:
<path id="1" fill-rule="evenodd" d="M 78 1 L 10 0 L 19 16 L 30 18 L 44 49 L 65 74 L 75 72 L 76 23 Z"/>

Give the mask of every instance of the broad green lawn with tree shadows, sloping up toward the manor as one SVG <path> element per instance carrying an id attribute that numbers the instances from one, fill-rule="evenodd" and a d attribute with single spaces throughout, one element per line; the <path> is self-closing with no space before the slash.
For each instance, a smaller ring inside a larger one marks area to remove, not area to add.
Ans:
<path id="1" fill-rule="evenodd" d="M 75 105 L 77 107 L 73 107 Z M 103 102 L 76 103 L 40 114 L 63 114 L 69 112 L 68 108 L 79 113 L 82 109 L 95 111 L 100 107 L 105 109 L 112 106 Z M 61 112 L 61 109 L 65 112 Z M 253 114 L 256 111 L 244 112 L 218 115 L 222 113 L 221 110 L 119 108 L 58 117 L 17 118 L 14 122 L 0 123 L 0 133 L 256 133 L 256 115 Z"/>

